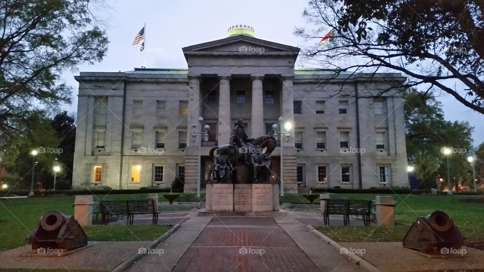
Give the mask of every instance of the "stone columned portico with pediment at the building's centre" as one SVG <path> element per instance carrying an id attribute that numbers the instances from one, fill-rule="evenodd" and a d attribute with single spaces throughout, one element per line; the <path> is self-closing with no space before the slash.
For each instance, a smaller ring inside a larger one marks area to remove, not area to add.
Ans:
<path id="1" fill-rule="evenodd" d="M 211 127 L 210 135 L 216 135 L 211 143 L 202 144 L 202 154 L 208 154 L 211 146 L 228 144 L 238 119 L 244 120 L 251 138 L 271 133 L 270 127 L 279 116 L 293 121 L 292 80 L 299 48 L 249 35 L 234 35 L 185 47 L 183 52 L 190 80 L 188 126 L 198 124 L 202 116 Z M 190 138 L 190 131 L 187 134 Z M 187 143 L 185 184 L 193 190 L 198 165 L 190 158 L 194 158 L 199 147 L 190 139 Z M 294 155 L 290 152 L 294 148 L 293 137 L 283 145 L 289 148 L 290 162 L 290 155 Z M 278 150 L 273 154 L 278 156 Z M 291 186 L 296 184 L 295 164 L 289 163 L 288 167 L 293 168 L 289 171 L 292 175 L 288 172 L 286 178 Z M 296 189 L 296 185 L 293 187 Z"/>

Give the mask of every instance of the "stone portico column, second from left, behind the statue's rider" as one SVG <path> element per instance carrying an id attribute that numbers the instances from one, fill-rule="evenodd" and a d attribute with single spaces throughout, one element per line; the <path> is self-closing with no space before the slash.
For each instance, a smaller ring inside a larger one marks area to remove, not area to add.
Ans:
<path id="1" fill-rule="evenodd" d="M 230 119 L 230 77 L 219 77 L 220 91 L 218 99 L 218 145 L 228 144 L 232 131 Z"/>

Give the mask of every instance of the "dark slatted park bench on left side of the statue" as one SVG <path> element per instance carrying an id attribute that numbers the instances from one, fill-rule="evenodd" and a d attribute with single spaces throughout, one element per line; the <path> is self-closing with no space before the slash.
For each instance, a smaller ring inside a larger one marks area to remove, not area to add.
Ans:
<path id="1" fill-rule="evenodd" d="M 152 223 L 158 223 L 158 211 L 156 199 L 147 200 L 108 200 L 99 202 L 101 224 L 107 225 L 112 217 L 127 216 L 127 223 L 133 225 L 134 216 L 140 214 L 152 214 Z"/>

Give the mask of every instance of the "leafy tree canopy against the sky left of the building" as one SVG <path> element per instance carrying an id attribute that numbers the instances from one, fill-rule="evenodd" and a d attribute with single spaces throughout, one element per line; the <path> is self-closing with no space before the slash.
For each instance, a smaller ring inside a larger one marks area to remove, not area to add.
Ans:
<path id="1" fill-rule="evenodd" d="M 93 5 L 102 2 L 0 2 L 0 148 L 33 129 L 36 124 L 29 121 L 37 111 L 71 102 L 64 71 L 106 54 L 108 40 L 92 15 Z"/>

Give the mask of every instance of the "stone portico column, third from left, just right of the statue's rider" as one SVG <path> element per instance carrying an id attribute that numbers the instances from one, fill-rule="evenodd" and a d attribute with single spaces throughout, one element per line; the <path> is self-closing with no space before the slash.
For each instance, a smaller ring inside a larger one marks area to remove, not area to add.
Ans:
<path id="1" fill-rule="evenodd" d="M 262 77 L 252 77 L 252 115 L 251 138 L 265 133 L 264 129 L 264 96 L 262 94 Z"/>

